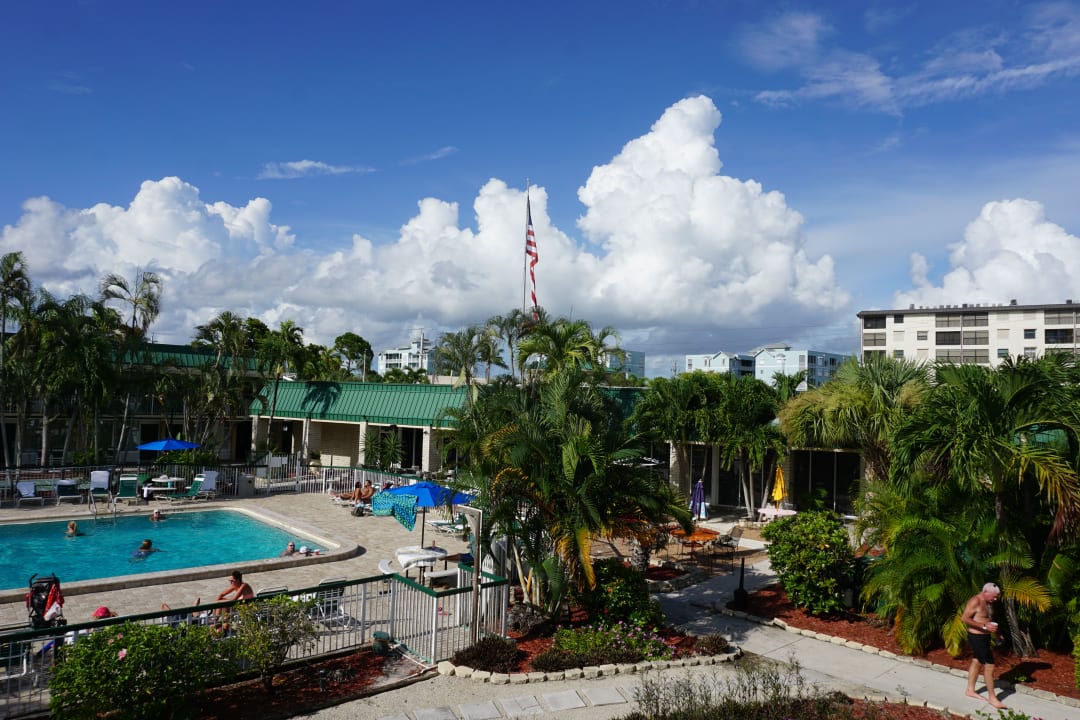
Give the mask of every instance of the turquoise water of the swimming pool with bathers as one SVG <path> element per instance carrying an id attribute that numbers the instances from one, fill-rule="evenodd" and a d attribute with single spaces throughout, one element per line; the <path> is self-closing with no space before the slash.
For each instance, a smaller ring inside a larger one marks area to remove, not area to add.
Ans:
<path id="1" fill-rule="evenodd" d="M 76 538 L 65 536 L 67 519 L 0 525 L 0 589 L 26 588 L 30 575 L 55 574 L 60 583 L 181 570 L 206 565 L 278 557 L 289 540 L 311 545 L 244 513 L 203 511 L 113 519 L 77 518 Z M 150 539 L 161 552 L 135 555 Z"/>

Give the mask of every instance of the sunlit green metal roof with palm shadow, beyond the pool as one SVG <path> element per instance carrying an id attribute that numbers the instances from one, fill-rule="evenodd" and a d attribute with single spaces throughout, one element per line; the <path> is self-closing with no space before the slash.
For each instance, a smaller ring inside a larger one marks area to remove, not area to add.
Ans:
<path id="1" fill-rule="evenodd" d="M 255 400 L 252 415 L 269 415 L 272 394 L 273 385 L 268 384 L 267 408 Z M 464 402 L 465 389 L 453 385 L 283 381 L 278 383 L 274 417 L 449 427 L 443 410 L 461 407 Z"/>

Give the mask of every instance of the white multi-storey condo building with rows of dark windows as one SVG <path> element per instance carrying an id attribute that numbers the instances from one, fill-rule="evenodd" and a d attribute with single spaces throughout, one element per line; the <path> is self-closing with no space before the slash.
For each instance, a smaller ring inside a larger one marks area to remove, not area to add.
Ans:
<path id="1" fill-rule="evenodd" d="M 1007 357 L 1077 354 L 1080 304 L 964 303 L 864 310 L 862 355 L 997 367 Z"/>

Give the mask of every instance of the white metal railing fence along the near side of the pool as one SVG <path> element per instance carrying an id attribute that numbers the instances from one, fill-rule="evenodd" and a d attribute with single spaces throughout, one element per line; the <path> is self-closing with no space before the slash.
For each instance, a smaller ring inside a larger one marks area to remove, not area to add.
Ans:
<path id="1" fill-rule="evenodd" d="M 310 650 L 294 647 L 288 664 L 369 647 L 374 634 L 379 630 L 421 664 L 434 665 L 449 660 L 472 643 L 472 572 L 471 566 L 459 563 L 458 587 L 443 590 L 402 575 L 327 581 L 300 589 L 281 588 L 279 594 L 311 603 L 311 617 L 319 628 L 314 646 Z M 477 637 L 504 637 L 510 584 L 507 579 L 489 573 L 483 573 L 482 578 Z M 0 718 L 41 716 L 49 711 L 49 681 L 56 663 L 64 662 L 57 657 L 56 650 L 77 641 L 80 635 L 125 622 L 150 625 L 192 622 L 192 613 L 228 609 L 232 604 L 174 608 L 94 623 L 2 633 Z"/>

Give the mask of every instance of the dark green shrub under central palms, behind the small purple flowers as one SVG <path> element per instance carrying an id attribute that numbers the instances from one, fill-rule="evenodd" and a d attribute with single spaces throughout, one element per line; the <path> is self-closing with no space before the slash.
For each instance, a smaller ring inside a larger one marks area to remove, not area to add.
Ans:
<path id="1" fill-rule="evenodd" d="M 649 596 L 649 584 L 639 570 L 627 567 L 618 558 L 604 558 L 593 563 L 596 586 L 578 593 L 573 601 L 589 613 L 589 619 L 605 623 L 625 621 L 645 627 L 658 627 L 664 613 L 660 603 Z"/>

